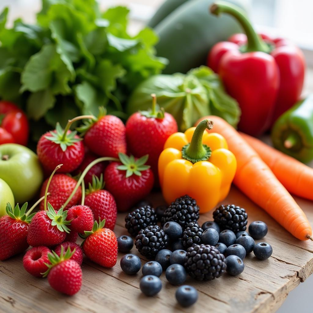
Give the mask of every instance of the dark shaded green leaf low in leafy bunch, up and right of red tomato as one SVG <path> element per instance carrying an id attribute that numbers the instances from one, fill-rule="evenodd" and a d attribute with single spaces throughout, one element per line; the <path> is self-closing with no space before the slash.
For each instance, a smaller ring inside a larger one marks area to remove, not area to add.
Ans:
<path id="1" fill-rule="evenodd" d="M 50 89 L 32 93 L 27 100 L 28 117 L 39 120 L 49 109 L 54 107 L 55 97 Z M 55 123 L 54 123 L 55 125 Z"/>

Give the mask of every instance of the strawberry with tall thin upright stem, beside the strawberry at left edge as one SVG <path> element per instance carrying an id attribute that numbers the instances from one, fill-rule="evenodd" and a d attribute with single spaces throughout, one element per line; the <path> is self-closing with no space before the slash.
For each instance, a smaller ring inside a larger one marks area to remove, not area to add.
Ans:
<path id="1" fill-rule="evenodd" d="M 64 241 L 69 228 L 66 226 L 70 221 L 66 220 L 67 211 L 63 212 L 63 207 L 55 211 L 48 202 L 47 211 L 47 192 L 54 173 L 62 166 L 58 165 L 52 172 L 44 195 L 44 211 L 37 212 L 28 227 L 27 243 L 30 246 L 53 246 Z"/>

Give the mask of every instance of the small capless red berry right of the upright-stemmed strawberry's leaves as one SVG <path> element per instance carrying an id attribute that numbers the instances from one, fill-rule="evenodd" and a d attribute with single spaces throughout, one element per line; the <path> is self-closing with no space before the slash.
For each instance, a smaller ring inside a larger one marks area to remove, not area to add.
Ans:
<path id="1" fill-rule="evenodd" d="M 77 233 L 84 233 L 85 230 L 90 231 L 94 224 L 94 215 L 86 205 L 70 207 L 66 219 L 71 222 L 71 231 Z"/>

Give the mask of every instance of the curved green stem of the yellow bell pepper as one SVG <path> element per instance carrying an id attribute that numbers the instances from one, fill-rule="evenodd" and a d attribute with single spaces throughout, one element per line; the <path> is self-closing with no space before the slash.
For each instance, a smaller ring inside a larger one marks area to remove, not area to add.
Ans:
<path id="1" fill-rule="evenodd" d="M 211 156 L 211 148 L 202 144 L 203 132 L 213 128 L 213 121 L 203 120 L 196 127 L 191 142 L 182 148 L 182 157 L 192 163 L 206 161 Z"/>

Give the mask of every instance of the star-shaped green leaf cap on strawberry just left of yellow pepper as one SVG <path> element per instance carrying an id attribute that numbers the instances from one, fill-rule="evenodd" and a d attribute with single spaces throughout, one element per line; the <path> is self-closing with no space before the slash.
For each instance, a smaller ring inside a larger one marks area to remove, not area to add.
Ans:
<path id="1" fill-rule="evenodd" d="M 149 155 L 146 154 L 145 156 L 142 156 L 138 160 L 135 159 L 134 156 L 127 156 L 124 153 L 118 154 L 120 161 L 122 162 L 122 165 L 119 165 L 117 169 L 121 171 L 126 171 L 126 178 L 131 177 L 133 174 L 137 176 L 141 176 L 142 171 L 146 171 L 148 168 L 150 168 L 149 165 L 145 165 L 148 161 Z"/>

